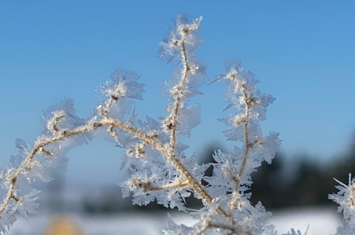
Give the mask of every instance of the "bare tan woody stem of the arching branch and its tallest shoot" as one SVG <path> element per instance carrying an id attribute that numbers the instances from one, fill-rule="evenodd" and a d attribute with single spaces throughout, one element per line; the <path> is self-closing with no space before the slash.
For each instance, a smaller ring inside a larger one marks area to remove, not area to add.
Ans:
<path id="1" fill-rule="evenodd" d="M 23 152 L 26 153 L 26 156 L 23 158 L 22 162 L 19 164 L 15 172 L 13 168 L 8 169 L 6 173 L 3 172 L 3 179 L 5 179 L 5 182 L 8 184 L 8 192 L 6 194 L 6 197 L 3 199 L 3 203 L 0 207 L 0 215 L 3 215 L 6 210 L 13 211 L 9 210 L 9 207 L 11 207 L 13 204 L 11 201 L 12 199 L 15 200 L 16 203 L 22 203 L 21 197 L 17 196 L 18 192 L 15 192 L 14 189 L 21 175 L 27 176 L 27 174 L 30 173 L 33 168 L 41 166 L 38 161 L 34 160 L 35 156 L 44 155 L 47 161 L 51 161 L 50 159 L 55 158 L 56 155 L 56 150 L 52 149 L 51 147 L 53 144 L 59 142 L 60 146 L 60 143 L 65 140 L 75 138 L 76 136 L 80 135 L 94 133 L 97 129 L 104 127 L 107 128 L 107 132 L 115 139 L 116 142 L 119 142 L 119 135 L 122 136 L 122 133 L 120 134 L 121 130 L 121 132 L 123 131 L 124 133 L 130 134 L 132 138 L 139 139 L 140 143 L 143 144 L 140 144 L 140 148 L 137 148 L 136 151 L 129 150 L 127 152 L 138 152 L 144 154 L 144 148 L 148 144 L 157 151 L 159 151 L 161 155 L 165 157 L 166 162 L 172 165 L 179 173 L 179 175 L 175 175 L 176 179 L 170 180 L 169 183 L 165 183 L 162 185 L 156 185 L 154 183 L 154 180 L 151 179 L 147 179 L 146 181 L 144 181 L 141 179 L 137 180 L 135 179 L 135 177 L 132 177 L 132 182 L 128 182 L 127 185 L 136 187 L 138 189 L 143 188 L 144 192 L 159 191 L 165 189 L 191 190 L 196 193 L 197 197 L 201 198 L 206 205 L 210 205 L 212 203 L 213 198 L 201 185 L 201 179 L 197 179 L 193 174 L 191 174 L 191 172 L 186 168 L 186 166 L 179 160 L 179 154 L 181 153 L 178 153 L 175 149 L 177 144 L 177 127 L 179 126 L 179 122 L 181 122 L 178 121 L 178 117 L 181 112 L 184 112 L 184 108 L 185 110 L 186 108 L 189 108 L 186 106 L 186 97 L 188 97 L 186 93 L 192 93 L 191 89 L 187 89 L 189 86 L 189 76 L 194 75 L 198 72 L 199 69 L 201 70 L 201 68 L 203 68 L 201 65 L 196 63 L 197 61 L 195 61 L 195 63 L 193 64 L 189 63 L 188 54 L 192 51 L 187 52 L 186 48 L 186 44 L 189 44 L 188 42 L 186 42 L 186 38 L 191 36 L 190 33 L 192 31 L 196 31 L 199 29 L 201 19 L 202 18 L 196 19 L 193 24 L 178 25 L 177 33 L 180 34 L 180 38 L 172 42 L 174 46 L 180 49 L 180 56 L 182 58 L 181 63 L 183 65 L 183 68 L 181 70 L 180 82 L 174 85 L 173 88 L 170 90 L 172 93 L 171 97 L 173 99 L 173 102 L 172 105 L 167 108 L 167 110 L 170 112 L 170 115 L 168 115 L 165 121 L 163 122 L 163 126 L 165 125 L 163 129 L 165 131 L 167 130 L 168 132 L 170 132 L 170 141 L 168 143 L 161 142 L 159 140 L 159 134 L 156 134 L 155 131 L 148 131 L 146 133 L 144 131 L 141 131 L 140 128 L 134 127 L 134 125 L 132 125 L 132 123 L 130 123 L 129 121 L 127 122 L 124 120 L 119 120 L 110 115 L 110 111 L 112 108 L 114 108 L 115 104 L 121 101 L 125 101 L 125 99 L 127 98 L 126 93 L 128 92 L 128 86 L 125 86 L 128 85 L 130 82 L 126 81 L 126 74 L 121 74 L 122 77 L 118 78 L 118 80 L 121 81 L 117 81 L 119 82 L 118 84 L 114 85 L 112 88 L 105 88 L 105 96 L 109 99 L 105 100 L 103 104 L 99 104 L 96 107 L 97 113 L 91 119 L 87 120 L 85 124 L 79 125 L 75 128 L 67 128 L 61 123 L 65 123 L 65 120 L 70 117 L 70 113 L 66 113 L 65 110 L 60 109 L 54 110 L 51 113 L 52 117 L 48 120 L 46 124 L 47 133 L 43 136 L 40 136 L 30 150 L 22 148 Z M 193 79 L 193 77 L 190 77 L 190 79 Z M 65 106 L 65 104 L 63 106 Z M 134 116 L 134 114 L 132 115 Z M 48 133 L 50 134 L 48 135 Z M 228 217 L 227 213 L 221 207 L 218 206 L 216 208 L 216 211 L 217 213 Z M 6 213 L 6 215 L 7 214 L 8 213 Z M 6 224 L 4 225 L 5 228 L 2 228 L 2 230 L 6 230 L 6 226 L 8 226 Z"/>

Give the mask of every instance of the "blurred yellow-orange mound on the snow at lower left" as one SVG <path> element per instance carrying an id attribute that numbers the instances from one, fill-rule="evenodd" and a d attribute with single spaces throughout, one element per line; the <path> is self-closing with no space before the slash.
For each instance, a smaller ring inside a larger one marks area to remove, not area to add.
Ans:
<path id="1" fill-rule="evenodd" d="M 56 216 L 50 221 L 43 235 L 83 235 L 79 226 L 69 216 Z"/>

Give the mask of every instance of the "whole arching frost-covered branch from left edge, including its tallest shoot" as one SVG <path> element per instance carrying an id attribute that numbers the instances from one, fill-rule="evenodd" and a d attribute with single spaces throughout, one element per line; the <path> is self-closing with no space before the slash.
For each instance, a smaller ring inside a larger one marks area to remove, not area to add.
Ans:
<path id="1" fill-rule="evenodd" d="M 149 202 L 153 197 L 165 206 L 185 210 L 183 200 L 193 192 L 206 205 L 211 204 L 213 198 L 201 184 L 203 172 L 208 166 L 198 166 L 194 156 L 187 159 L 183 154 L 187 146 L 176 139 L 177 135 L 189 137 L 191 129 L 200 122 L 199 106 L 188 105 L 188 99 L 202 94 L 197 88 L 207 77 L 204 66 L 193 54 L 202 42 L 197 34 L 201 20 L 198 18 L 190 22 L 187 17 L 178 16 L 175 29 L 162 43 L 160 52 L 164 55 L 170 53 L 170 62 L 181 57 L 179 63 L 182 69 L 170 81 L 171 86 L 167 89 L 170 97 L 166 109 L 168 114 L 162 118 L 161 125 L 148 116 L 147 122 L 140 121 L 134 110 L 126 119 L 131 99 L 142 98 L 144 85 L 137 83 L 138 74 L 123 69 L 116 70 L 108 82 L 97 89 L 102 101 L 89 119 L 80 119 L 76 115 L 70 99 L 45 110 L 43 130 L 38 139 L 33 146 L 18 140 L 19 154 L 13 157 L 14 164 L 2 171 L 3 189 L 7 191 L 0 206 L 3 231 L 15 220 L 13 212 L 21 210 L 23 198 L 35 200 L 31 197 L 38 191 L 33 189 L 23 194 L 26 191 L 23 188 L 32 189 L 30 184 L 35 177 L 50 180 L 49 168 L 65 168 L 65 152 L 93 137 L 103 137 L 127 149 L 122 166 L 135 166 L 134 170 L 131 169 L 135 173 L 124 183 L 134 193 L 136 201 L 133 203 L 141 204 L 149 196 Z M 143 191 L 140 191 L 141 188 Z M 165 197 L 154 194 L 158 191 L 160 194 L 163 191 Z M 35 205 L 31 204 L 32 207 Z M 216 211 L 226 216 L 220 207 Z M 24 216 L 26 212 L 33 211 L 23 209 Z"/>

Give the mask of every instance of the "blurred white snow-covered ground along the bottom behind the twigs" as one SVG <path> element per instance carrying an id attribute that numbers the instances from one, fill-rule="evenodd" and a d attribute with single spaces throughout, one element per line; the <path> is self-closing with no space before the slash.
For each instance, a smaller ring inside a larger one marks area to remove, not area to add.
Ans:
<path id="1" fill-rule="evenodd" d="M 184 213 L 171 213 L 177 223 L 192 225 L 193 219 Z M 86 235 L 155 235 L 161 234 L 166 226 L 166 213 L 122 212 L 112 216 L 79 216 L 68 214 Z M 48 226 L 53 215 L 42 213 L 32 216 L 27 221 L 19 219 L 10 229 L 10 235 L 38 235 Z M 298 208 L 279 210 L 273 213 L 270 223 L 275 225 L 278 234 L 286 233 L 290 228 L 306 231 L 309 235 L 334 234 L 341 225 L 341 215 L 329 208 Z"/>

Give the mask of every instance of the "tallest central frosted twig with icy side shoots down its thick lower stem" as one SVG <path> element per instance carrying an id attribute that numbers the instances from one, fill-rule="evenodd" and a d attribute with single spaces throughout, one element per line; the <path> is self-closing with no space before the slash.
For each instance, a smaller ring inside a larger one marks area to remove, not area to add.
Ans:
<path id="1" fill-rule="evenodd" d="M 199 166 L 194 156 L 186 158 L 183 151 L 188 146 L 177 140 L 177 136 L 190 137 L 191 130 L 200 123 L 200 107 L 190 105 L 189 98 L 202 94 L 197 89 L 207 78 L 203 63 L 193 54 L 201 44 L 198 37 L 201 20 L 201 17 L 190 20 L 177 16 L 175 27 L 169 30 L 157 53 L 161 58 L 169 55 L 168 63 L 178 59 L 178 65 L 172 79 L 162 84 L 163 93 L 168 97 L 166 114 L 160 117 L 160 123 L 149 118 L 145 124 L 162 149 L 136 143 L 128 152 L 135 152 L 135 158 L 126 152 L 123 159 L 132 173 L 132 178 L 122 184 L 123 195 L 133 191 L 135 204 L 146 205 L 157 200 L 166 207 L 185 210 L 184 198 L 191 193 L 206 205 L 212 201 L 201 184 L 208 165 Z M 143 157 L 141 152 L 145 152 Z"/>

